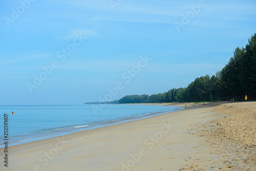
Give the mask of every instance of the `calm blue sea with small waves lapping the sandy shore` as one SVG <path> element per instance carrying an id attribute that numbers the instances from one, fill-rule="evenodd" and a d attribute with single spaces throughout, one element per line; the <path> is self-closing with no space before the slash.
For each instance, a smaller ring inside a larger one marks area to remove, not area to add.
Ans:
<path id="1" fill-rule="evenodd" d="M 182 109 L 178 106 L 135 104 L 0 105 L 0 137 L 3 142 L 8 139 L 9 146 L 12 146 Z M 16 114 L 10 114 L 12 112 Z M 8 130 L 4 130 L 5 125 Z M 4 135 L 4 131 L 8 135 Z M 0 148 L 4 147 L 3 142 Z"/>

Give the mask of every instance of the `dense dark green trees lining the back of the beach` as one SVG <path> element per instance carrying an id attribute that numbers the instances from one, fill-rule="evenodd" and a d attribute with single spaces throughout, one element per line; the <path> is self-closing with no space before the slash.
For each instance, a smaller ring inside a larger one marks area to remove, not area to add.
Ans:
<path id="1" fill-rule="evenodd" d="M 202 76 L 186 88 L 170 89 L 165 93 L 129 95 L 119 103 L 191 102 L 212 100 L 256 99 L 256 34 L 248 39 L 245 48 L 237 47 L 233 57 L 216 75 Z"/>

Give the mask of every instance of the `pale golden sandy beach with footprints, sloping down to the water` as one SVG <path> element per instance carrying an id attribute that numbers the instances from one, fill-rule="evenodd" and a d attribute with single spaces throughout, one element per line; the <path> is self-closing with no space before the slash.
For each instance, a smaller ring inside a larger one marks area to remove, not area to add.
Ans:
<path id="1" fill-rule="evenodd" d="M 162 104 L 158 105 L 174 105 Z M 256 170 L 256 102 L 182 111 L 1 150 L 0 170 Z"/>

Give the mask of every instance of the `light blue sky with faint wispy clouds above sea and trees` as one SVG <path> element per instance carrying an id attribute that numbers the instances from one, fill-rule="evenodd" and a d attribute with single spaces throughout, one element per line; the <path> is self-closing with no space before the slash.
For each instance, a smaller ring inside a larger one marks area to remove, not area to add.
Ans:
<path id="1" fill-rule="evenodd" d="M 247 44 L 255 9 L 254 0 L 0 0 L 0 105 L 185 88 Z"/>

